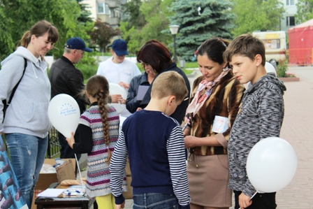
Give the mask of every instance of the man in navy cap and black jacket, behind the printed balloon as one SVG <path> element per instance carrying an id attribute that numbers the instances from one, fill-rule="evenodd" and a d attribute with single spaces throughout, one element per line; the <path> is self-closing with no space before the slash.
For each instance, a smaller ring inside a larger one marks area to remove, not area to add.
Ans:
<path id="1" fill-rule="evenodd" d="M 84 52 L 92 52 L 87 48 L 82 38 L 73 37 L 68 39 L 64 45 L 64 54 L 51 66 L 49 80 L 51 82 L 51 97 L 57 94 L 68 94 L 72 96 L 80 107 L 80 114 L 86 110 L 85 99 L 79 94 L 85 88 L 82 72 L 75 68 L 73 64 L 80 62 L 84 57 Z M 73 149 L 68 146 L 65 137 L 58 133 L 61 145 L 61 158 L 75 158 Z M 79 155 L 79 156 L 78 156 Z M 78 159 L 80 154 L 77 154 Z"/>

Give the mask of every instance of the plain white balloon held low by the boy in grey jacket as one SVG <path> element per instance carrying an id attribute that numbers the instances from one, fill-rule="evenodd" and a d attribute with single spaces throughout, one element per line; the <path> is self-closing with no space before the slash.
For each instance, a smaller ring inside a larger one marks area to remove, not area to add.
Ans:
<path id="1" fill-rule="evenodd" d="M 297 156 L 284 139 L 268 137 L 260 140 L 249 152 L 247 175 L 259 192 L 277 192 L 293 179 L 297 169 Z"/>

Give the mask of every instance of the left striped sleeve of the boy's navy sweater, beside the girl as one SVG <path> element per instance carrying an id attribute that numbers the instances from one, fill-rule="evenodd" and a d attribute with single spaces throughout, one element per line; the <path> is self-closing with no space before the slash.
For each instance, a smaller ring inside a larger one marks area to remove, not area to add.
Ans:
<path id="1" fill-rule="evenodd" d="M 125 199 L 122 194 L 124 189 L 122 189 L 123 178 L 124 178 L 124 169 L 127 161 L 127 147 L 125 144 L 124 133 L 121 131 L 119 134 L 119 139 L 117 140 L 117 144 L 115 146 L 114 153 L 112 154 L 112 159 L 110 161 L 110 189 L 115 196 L 115 203 L 122 204 Z"/>

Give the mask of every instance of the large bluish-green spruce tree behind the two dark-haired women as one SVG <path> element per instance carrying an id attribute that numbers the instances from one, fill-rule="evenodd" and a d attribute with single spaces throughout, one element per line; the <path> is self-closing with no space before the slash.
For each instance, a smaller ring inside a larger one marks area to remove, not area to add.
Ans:
<path id="1" fill-rule="evenodd" d="M 212 37 L 232 38 L 231 30 L 235 15 L 230 9 L 233 4 L 227 0 L 180 0 L 174 1 L 170 10 L 175 15 L 170 24 L 178 24 L 177 55 L 192 59 L 201 43 Z M 170 31 L 168 30 L 168 33 Z"/>

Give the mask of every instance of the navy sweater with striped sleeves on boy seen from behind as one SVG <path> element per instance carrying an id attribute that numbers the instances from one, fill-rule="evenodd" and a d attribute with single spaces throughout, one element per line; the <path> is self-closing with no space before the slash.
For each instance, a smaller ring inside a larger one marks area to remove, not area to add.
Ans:
<path id="1" fill-rule="evenodd" d="M 159 111 L 140 110 L 123 123 L 111 159 L 111 191 L 117 204 L 122 196 L 127 155 L 133 194 L 175 194 L 182 208 L 189 208 L 189 186 L 180 124 Z"/>

